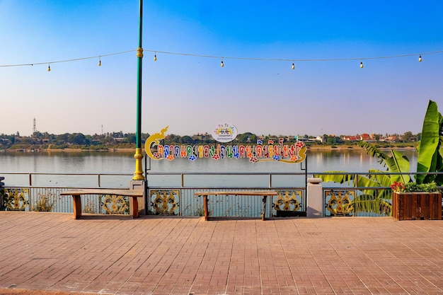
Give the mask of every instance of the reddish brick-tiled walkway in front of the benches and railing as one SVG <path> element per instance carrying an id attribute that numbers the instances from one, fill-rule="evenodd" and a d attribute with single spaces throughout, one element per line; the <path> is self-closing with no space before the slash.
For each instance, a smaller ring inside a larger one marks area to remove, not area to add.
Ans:
<path id="1" fill-rule="evenodd" d="M 0 212 L 0 294 L 443 294 L 443 221 Z"/>

